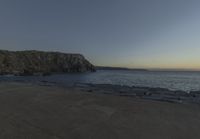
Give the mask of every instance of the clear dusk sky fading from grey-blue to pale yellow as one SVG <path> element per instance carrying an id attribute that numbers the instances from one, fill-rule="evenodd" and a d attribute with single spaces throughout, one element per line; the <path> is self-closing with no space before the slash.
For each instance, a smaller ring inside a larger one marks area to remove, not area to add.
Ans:
<path id="1" fill-rule="evenodd" d="M 0 0 L 0 49 L 94 65 L 200 70 L 199 0 Z"/>

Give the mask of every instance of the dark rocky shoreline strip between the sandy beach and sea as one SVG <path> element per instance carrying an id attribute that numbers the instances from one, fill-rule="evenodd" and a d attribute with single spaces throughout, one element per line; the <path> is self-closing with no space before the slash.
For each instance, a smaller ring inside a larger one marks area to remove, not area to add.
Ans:
<path id="1" fill-rule="evenodd" d="M 134 97 L 147 100 L 183 103 L 183 104 L 200 104 L 200 91 L 172 91 L 166 88 L 151 88 L 137 86 L 121 86 L 111 84 L 87 84 L 76 83 L 72 86 L 61 85 L 54 82 L 41 81 L 42 86 L 58 86 L 65 88 L 74 88 L 88 93 L 107 94 L 116 96 Z"/>

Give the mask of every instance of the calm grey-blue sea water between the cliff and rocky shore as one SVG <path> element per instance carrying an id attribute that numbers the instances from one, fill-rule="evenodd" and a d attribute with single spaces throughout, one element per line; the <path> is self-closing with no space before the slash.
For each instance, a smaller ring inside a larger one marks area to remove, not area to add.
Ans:
<path id="1" fill-rule="evenodd" d="M 0 76 L 0 81 L 49 81 L 62 85 L 74 83 L 117 84 L 161 87 L 171 90 L 200 90 L 200 72 L 98 70 L 94 73 L 58 74 L 51 76 Z"/>

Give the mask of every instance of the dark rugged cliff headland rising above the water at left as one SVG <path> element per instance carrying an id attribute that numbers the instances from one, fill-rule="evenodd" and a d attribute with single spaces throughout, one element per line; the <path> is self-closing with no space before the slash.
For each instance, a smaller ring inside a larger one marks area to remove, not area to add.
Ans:
<path id="1" fill-rule="evenodd" d="M 95 71 L 95 68 L 80 54 L 0 51 L 0 74 L 32 75 L 86 71 Z"/>

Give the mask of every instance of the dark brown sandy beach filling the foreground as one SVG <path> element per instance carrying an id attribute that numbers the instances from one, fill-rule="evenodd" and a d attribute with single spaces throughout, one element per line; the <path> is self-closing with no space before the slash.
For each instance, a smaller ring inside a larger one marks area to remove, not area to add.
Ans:
<path id="1" fill-rule="evenodd" d="M 0 84 L 2 139 L 198 139 L 200 106 L 86 87 Z"/>

